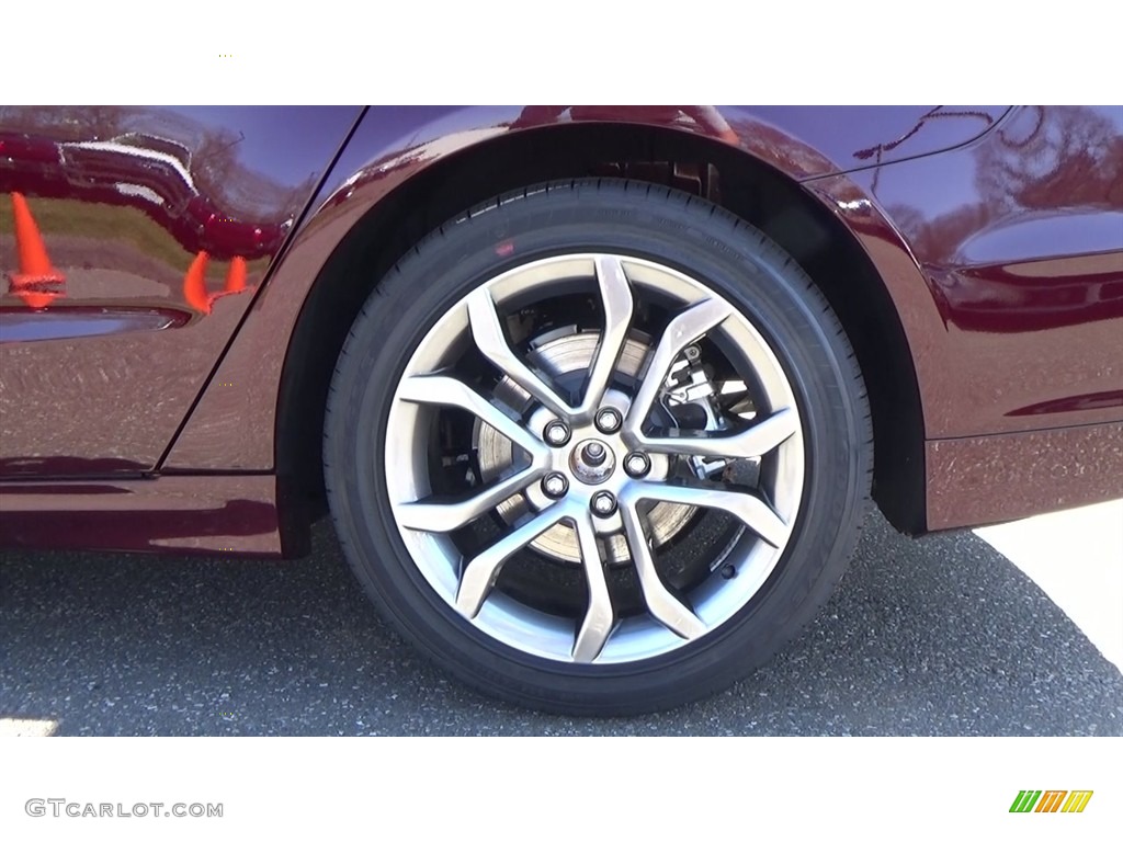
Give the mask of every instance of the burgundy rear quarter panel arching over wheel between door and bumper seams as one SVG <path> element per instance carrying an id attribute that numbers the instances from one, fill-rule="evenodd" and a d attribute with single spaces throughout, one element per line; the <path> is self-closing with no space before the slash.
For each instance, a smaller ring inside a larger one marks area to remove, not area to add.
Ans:
<path id="1" fill-rule="evenodd" d="M 1005 111 L 996 107 L 372 108 L 317 195 L 313 216 L 223 358 L 217 379 L 237 386 L 207 391 L 163 467 L 273 468 L 276 391 L 286 350 L 275 338 L 292 332 L 331 251 L 365 213 L 426 167 L 469 146 L 506 132 L 549 131 L 581 121 L 656 126 L 736 147 L 802 180 L 868 166 L 878 155 L 893 161 L 967 143 Z M 903 246 L 902 251 L 907 256 Z M 913 274 L 912 283 L 926 295 L 915 267 Z M 236 431 L 244 425 L 259 434 L 239 440 Z"/>

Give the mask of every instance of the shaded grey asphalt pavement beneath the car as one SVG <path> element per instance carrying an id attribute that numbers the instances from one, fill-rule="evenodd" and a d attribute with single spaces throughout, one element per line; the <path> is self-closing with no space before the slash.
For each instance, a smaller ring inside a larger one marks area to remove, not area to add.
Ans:
<path id="1" fill-rule="evenodd" d="M 416 656 L 321 522 L 296 561 L 0 553 L 3 721 L 63 735 L 1123 735 L 1123 675 L 974 533 L 914 541 L 875 513 L 819 617 L 732 689 L 630 720 L 541 715 Z"/>

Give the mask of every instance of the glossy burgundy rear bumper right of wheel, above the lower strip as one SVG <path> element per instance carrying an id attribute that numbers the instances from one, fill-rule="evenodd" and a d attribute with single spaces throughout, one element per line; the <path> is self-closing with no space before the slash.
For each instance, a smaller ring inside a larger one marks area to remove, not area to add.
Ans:
<path id="1" fill-rule="evenodd" d="M 940 155 L 813 182 L 894 295 L 928 438 L 1114 422 L 1123 108 L 1020 108 Z M 911 257 L 905 254 L 911 253 Z M 926 289 L 914 280 L 919 265 Z"/>

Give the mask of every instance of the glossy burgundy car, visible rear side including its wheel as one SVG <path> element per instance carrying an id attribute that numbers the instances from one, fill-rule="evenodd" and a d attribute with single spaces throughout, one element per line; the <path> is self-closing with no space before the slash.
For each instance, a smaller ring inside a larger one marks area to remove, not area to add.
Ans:
<path id="1" fill-rule="evenodd" d="M 0 544 L 330 513 L 523 705 L 745 676 L 871 501 L 1123 496 L 1120 107 L 0 108 Z"/>

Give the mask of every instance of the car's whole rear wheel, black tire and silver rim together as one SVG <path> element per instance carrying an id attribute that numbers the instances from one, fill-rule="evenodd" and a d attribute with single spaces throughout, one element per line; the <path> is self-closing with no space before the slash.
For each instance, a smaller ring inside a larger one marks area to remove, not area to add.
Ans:
<path id="1" fill-rule="evenodd" d="M 825 600 L 871 434 L 841 328 L 774 244 L 576 182 L 472 211 L 382 280 L 325 464 L 358 578 L 438 663 L 633 713 L 727 686 Z"/>

